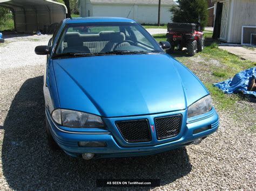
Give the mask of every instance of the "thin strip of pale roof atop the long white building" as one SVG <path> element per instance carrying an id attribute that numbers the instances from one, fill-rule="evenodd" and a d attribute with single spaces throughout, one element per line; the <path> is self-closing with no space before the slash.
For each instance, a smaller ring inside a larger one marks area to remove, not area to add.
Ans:
<path id="1" fill-rule="evenodd" d="M 90 0 L 91 4 L 156 4 L 158 0 Z M 175 4 L 173 0 L 161 0 L 161 5 Z"/>

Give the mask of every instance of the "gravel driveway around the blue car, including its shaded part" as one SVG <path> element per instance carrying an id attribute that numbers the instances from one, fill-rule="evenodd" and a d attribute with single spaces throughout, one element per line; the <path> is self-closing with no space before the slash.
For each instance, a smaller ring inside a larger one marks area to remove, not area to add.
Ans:
<path id="1" fill-rule="evenodd" d="M 256 188 L 255 130 L 244 109 L 255 109 L 255 103 L 219 111 L 220 128 L 203 143 L 161 154 L 85 161 L 50 151 L 42 88 L 45 56 L 33 53 L 48 39 L 12 38 L 0 45 L 0 189 L 93 189 L 103 178 L 160 179 L 155 189 Z"/>

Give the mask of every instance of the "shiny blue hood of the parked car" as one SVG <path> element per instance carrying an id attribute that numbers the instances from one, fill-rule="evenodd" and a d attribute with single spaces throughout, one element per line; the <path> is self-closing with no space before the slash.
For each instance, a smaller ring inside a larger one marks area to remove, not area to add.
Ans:
<path id="1" fill-rule="evenodd" d="M 57 59 L 53 68 L 61 108 L 104 117 L 183 110 L 208 94 L 167 54 Z"/>

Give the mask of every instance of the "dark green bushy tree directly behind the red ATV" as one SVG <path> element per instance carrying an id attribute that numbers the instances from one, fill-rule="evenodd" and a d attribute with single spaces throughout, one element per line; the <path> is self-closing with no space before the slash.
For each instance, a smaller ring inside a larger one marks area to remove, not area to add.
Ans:
<path id="1" fill-rule="evenodd" d="M 200 19 L 201 29 L 207 25 L 208 5 L 206 0 L 178 0 L 178 5 L 172 6 L 175 23 L 198 23 Z"/>

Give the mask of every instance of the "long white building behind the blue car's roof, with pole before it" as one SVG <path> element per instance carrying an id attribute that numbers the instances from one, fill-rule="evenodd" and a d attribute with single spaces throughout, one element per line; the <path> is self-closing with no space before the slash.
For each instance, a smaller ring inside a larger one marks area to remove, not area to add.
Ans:
<path id="1" fill-rule="evenodd" d="M 125 17 L 143 24 L 158 22 L 158 0 L 80 0 L 81 17 Z M 160 23 L 171 22 L 173 0 L 161 0 Z"/>

